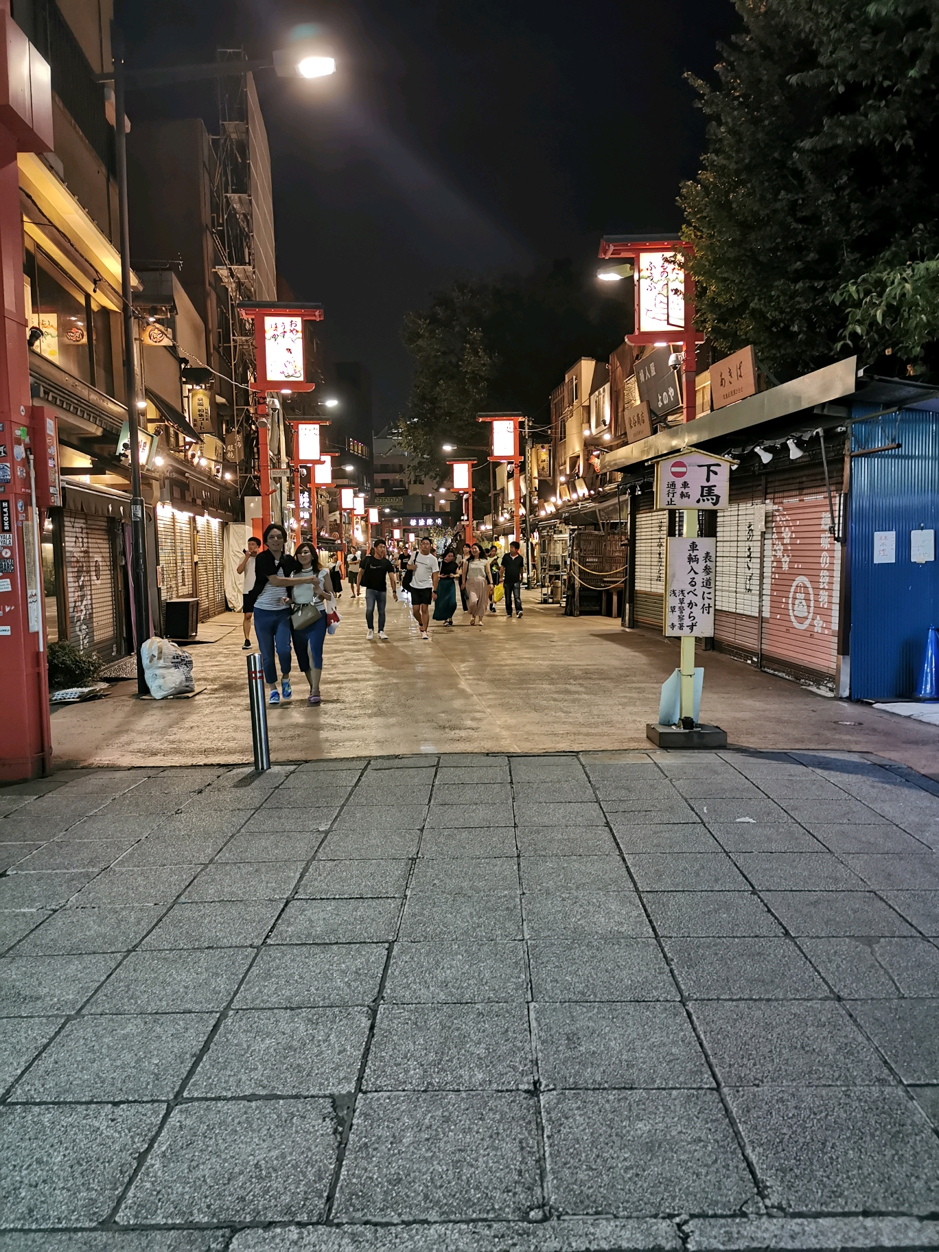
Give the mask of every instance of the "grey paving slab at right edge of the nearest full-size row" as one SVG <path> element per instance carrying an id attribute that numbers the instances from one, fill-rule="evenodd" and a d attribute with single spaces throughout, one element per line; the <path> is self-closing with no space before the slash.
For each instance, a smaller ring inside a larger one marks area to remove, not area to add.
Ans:
<path id="1" fill-rule="evenodd" d="M 774 1207 L 936 1211 L 939 1141 L 898 1088 L 745 1087 L 727 1099 Z"/>

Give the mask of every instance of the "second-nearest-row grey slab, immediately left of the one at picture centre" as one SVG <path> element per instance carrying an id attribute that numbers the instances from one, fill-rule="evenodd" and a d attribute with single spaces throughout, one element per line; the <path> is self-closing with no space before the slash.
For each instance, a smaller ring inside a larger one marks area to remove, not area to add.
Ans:
<path id="1" fill-rule="evenodd" d="M 364 1008 L 234 1010 L 185 1094 L 352 1094 L 369 1024 Z"/>

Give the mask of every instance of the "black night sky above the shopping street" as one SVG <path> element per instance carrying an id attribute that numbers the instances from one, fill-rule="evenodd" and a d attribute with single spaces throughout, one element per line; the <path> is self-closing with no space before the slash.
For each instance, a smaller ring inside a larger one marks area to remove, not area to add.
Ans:
<path id="1" fill-rule="evenodd" d="M 704 135 L 684 74 L 709 76 L 735 25 L 730 0 L 124 0 L 118 19 L 131 66 L 328 33 L 336 78 L 258 75 L 278 269 L 372 371 L 377 426 L 407 398 L 402 314 L 432 290 L 557 257 L 592 282 L 603 232 L 677 228 Z M 205 93 L 131 93 L 128 113 L 212 129 Z"/>

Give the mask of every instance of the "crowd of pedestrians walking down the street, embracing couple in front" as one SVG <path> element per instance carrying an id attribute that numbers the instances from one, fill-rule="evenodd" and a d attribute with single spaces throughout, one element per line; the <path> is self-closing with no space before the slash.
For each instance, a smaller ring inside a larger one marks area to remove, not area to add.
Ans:
<path id="1" fill-rule="evenodd" d="M 333 536 L 328 557 L 309 542 L 297 545 L 293 555 L 287 551 L 287 531 L 272 522 L 260 540 L 250 536 L 238 563 L 243 576 L 243 629 L 245 651 L 250 650 L 252 626 L 264 667 L 264 681 L 270 687 L 268 702 L 280 705 L 293 699 L 290 669 L 293 656 L 307 679 L 307 702 L 322 702 L 319 682 L 323 672 L 323 642 L 338 626 L 338 600 L 342 597 L 343 573 L 349 593 L 358 600 L 364 590 L 367 637 L 374 639 L 376 610 L 378 639 L 387 641 L 386 610 L 388 587 L 397 601 L 398 577 L 401 597 L 409 601 L 411 613 L 422 640 L 429 640 L 431 618 L 453 626 L 457 606 L 470 615 L 470 625 L 481 627 L 487 612 L 495 613 L 496 603 L 505 598 L 506 613 L 522 616 L 522 576 L 525 557 L 517 542 L 508 545 L 505 556 L 497 547 L 485 551 L 480 543 L 463 543 L 456 538 L 438 556 L 424 536 L 417 550 L 402 546 L 388 551 L 383 540 L 369 552 L 351 548 L 343 553 L 339 536 Z M 501 588 L 501 591 L 500 591 Z M 279 666 L 279 677 L 278 677 Z"/>

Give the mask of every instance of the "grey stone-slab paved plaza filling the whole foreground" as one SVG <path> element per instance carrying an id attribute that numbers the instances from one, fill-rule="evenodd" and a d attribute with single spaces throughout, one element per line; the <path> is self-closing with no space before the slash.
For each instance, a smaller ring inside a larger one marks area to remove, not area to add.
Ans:
<path id="1" fill-rule="evenodd" d="M 851 754 L 0 791 L 0 1248 L 939 1246 L 939 785 Z"/>

